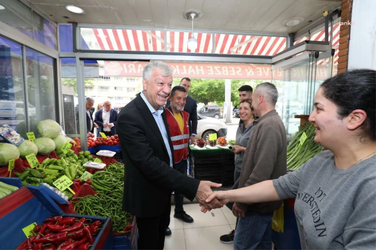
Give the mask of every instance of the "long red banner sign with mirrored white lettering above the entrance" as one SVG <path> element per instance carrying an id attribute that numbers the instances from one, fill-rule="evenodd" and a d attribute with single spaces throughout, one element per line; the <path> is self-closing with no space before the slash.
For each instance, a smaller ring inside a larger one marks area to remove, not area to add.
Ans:
<path id="1" fill-rule="evenodd" d="M 147 62 L 105 61 L 105 76 L 142 77 Z M 167 62 L 173 70 L 173 77 L 209 79 L 261 79 L 271 80 L 271 67 L 265 64 L 213 64 L 213 63 L 175 63 Z M 328 78 L 328 66 L 317 66 L 316 79 Z M 282 72 L 274 70 L 273 78 L 280 79 Z M 285 79 L 287 80 L 287 79 Z M 291 70 L 291 80 L 306 80 L 306 67 Z"/>

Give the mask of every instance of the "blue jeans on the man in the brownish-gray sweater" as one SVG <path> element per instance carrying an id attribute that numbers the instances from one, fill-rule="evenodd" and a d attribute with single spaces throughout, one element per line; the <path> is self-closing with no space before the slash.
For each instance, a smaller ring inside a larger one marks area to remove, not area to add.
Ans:
<path id="1" fill-rule="evenodd" d="M 271 250 L 271 217 L 270 213 L 246 211 L 240 218 L 235 238 L 234 250 Z"/>

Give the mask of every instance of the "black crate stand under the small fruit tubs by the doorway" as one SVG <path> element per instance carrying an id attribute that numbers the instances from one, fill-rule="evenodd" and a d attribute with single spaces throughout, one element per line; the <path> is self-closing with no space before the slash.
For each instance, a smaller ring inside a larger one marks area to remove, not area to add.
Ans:
<path id="1" fill-rule="evenodd" d="M 235 155 L 226 148 L 191 149 L 190 168 L 194 178 L 232 186 L 234 183 Z"/>

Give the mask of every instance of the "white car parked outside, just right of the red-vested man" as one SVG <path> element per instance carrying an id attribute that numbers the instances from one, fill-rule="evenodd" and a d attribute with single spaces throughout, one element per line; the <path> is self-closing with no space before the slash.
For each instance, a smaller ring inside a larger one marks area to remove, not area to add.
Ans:
<path id="1" fill-rule="evenodd" d="M 217 137 L 227 136 L 227 125 L 221 120 L 211 117 L 203 117 L 197 114 L 197 137 L 209 139 L 209 134 L 217 133 Z"/>

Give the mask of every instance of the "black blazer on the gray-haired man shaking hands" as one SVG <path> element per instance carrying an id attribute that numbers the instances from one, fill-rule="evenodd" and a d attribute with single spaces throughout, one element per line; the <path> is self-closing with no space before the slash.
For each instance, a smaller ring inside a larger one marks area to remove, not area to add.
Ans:
<path id="1" fill-rule="evenodd" d="M 165 112 L 162 117 L 172 149 Z M 116 127 L 125 165 L 125 211 L 138 217 L 160 216 L 172 191 L 194 199 L 200 181 L 170 167 L 162 134 L 141 96 L 121 109 Z"/>

